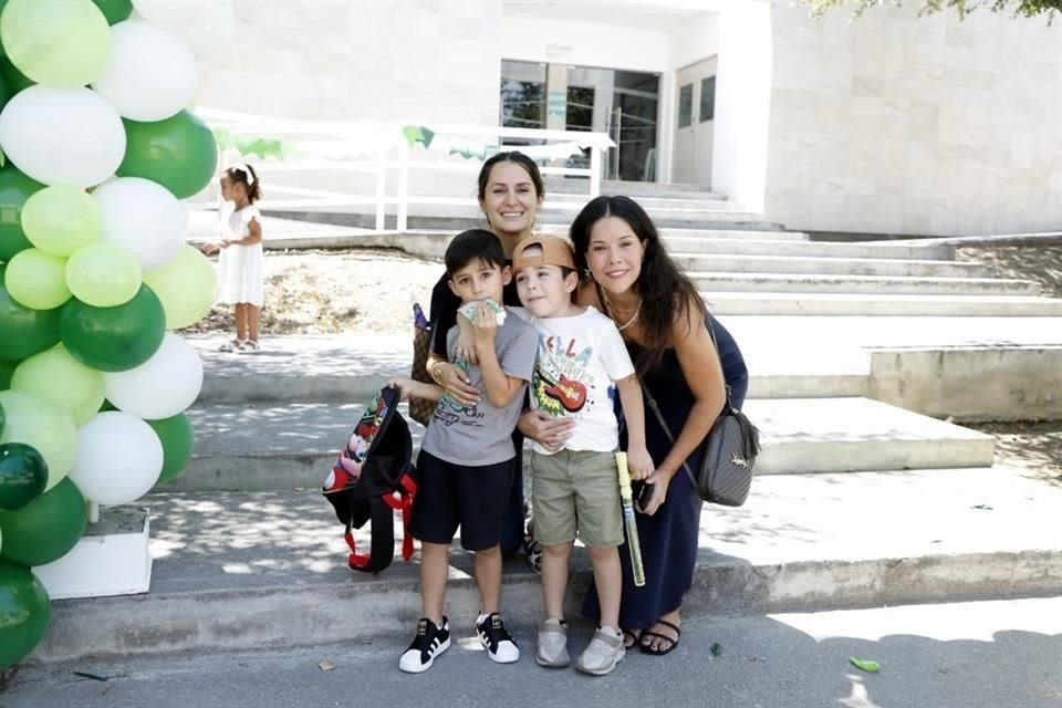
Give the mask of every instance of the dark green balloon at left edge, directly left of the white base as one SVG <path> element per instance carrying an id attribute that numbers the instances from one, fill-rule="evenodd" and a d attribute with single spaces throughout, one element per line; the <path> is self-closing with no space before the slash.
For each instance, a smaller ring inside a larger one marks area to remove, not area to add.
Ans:
<path id="1" fill-rule="evenodd" d="M 21 509 L 0 511 L 0 560 L 30 566 L 58 561 L 77 545 L 87 523 L 85 498 L 66 477 Z"/>

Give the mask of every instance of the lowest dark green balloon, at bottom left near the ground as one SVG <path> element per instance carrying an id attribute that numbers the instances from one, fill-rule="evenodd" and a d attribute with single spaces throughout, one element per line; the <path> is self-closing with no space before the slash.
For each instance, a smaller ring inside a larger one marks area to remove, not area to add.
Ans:
<path id="1" fill-rule="evenodd" d="M 33 650 L 52 617 L 48 591 L 30 569 L 0 561 L 0 671 Z"/>

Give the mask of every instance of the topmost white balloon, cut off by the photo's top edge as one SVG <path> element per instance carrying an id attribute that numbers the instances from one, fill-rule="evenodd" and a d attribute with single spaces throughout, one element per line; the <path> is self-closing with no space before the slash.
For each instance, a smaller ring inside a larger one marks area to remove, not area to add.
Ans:
<path id="1" fill-rule="evenodd" d="M 200 61 L 232 34 L 232 0 L 133 0 L 133 7 L 152 24 L 185 40 Z"/>

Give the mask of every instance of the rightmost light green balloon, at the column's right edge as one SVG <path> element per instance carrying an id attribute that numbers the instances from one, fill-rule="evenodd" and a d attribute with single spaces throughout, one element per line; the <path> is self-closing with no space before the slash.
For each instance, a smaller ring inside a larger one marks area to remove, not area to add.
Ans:
<path id="1" fill-rule="evenodd" d="M 195 324 L 210 312 L 214 304 L 214 266 L 210 259 L 187 243 L 165 266 L 144 273 L 144 283 L 162 301 L 167 330 Z"/>

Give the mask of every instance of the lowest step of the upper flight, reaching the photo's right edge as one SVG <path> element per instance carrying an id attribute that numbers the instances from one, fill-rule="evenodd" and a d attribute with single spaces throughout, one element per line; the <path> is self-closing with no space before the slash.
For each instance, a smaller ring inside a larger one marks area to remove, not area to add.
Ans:
<path id="1" fill-rule="evenodd" d="M 714 283 L 711 284 L 714 287 Z M 701 290 L 719 315 L 1062 316 L 1062 299 L 1023 295 L 719 292 Z"/>

